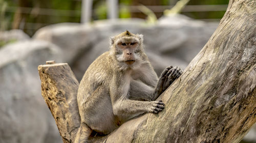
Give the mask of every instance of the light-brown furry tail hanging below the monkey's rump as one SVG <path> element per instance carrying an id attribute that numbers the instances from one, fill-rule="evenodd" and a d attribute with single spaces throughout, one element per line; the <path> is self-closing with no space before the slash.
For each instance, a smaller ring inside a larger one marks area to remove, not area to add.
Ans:
<path id="1" fill-rule="evenodd" d="M 86 124 L 81 123 L 77 133 L 74 143 L 88 143 L 88 138 L 92 133 L 92 129 Z"/>

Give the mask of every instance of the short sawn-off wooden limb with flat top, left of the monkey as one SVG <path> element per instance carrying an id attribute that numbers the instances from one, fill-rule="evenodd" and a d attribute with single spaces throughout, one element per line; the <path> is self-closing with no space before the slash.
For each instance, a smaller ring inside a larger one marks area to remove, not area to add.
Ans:
<path id="1" fill-rule="evenodd" d="M 52 112 L 63 142 L 72 142 L 80 126 L 80 116 L 76 100 L 79 82 L 68 64 L 38 66 L 41 92 Z"/>

